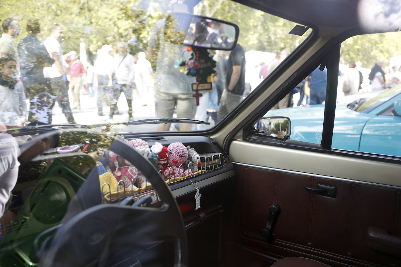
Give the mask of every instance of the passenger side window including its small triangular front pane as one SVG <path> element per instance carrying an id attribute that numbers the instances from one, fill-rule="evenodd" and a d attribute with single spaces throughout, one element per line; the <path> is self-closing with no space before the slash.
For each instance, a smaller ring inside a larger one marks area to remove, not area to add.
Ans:
<path id="1" fill-rule="evenodd" d="M 342 43 L 333 149 L 401 156 L 401 111 L 394 107 L 401 100 L 401 55 L 395 52 L 400 44 L 390 42 L 399 37 L 398 32 L 367 34 Z M 385 45 L 380 40 L 385 40 Z M 360 49 L 365 43 L 371 46 Z M 322 74 L 318 68 L 314 72 Z M 263 130 L 260 134 L 279 137 L 275 127 L 279 124 L 272 119 L 288 118 L 290 127 L 284 135 L 288 134 L 290 140 L 320 144 L 326 96 L 323 84 L 322 80 L 324 91 L 316 91 L 313 80 L 303 80 L 255 124 Z"/>

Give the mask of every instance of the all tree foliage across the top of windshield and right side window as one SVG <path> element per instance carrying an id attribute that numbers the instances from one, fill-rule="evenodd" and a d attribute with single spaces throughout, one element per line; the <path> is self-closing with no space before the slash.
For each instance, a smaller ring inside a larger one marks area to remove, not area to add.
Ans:
<path id="1" fill-rule="evenodd" d="M 40 40 L 49 36 L 54 23 L 63 25 L 65 52 L 79 50 L 80 42 L 95 53 L 103 44 L 125 41 L 131 53 L 136 54 L 146 51 L 154 23 L 166 17 L 170 9 L 169 0 L 7 0 L 0 2 L 0 19 L 19 20 L 22 32 L 15 44 L 27 34 L 28 18 L 38 18 L 42 30 Z M 194 13 L 237 24 L 239 44 L 245 51 L 275 53 L 284 48 L 291 51 L 312 31 L 303 36 L 290 35 L 288 32 L 296 23 L 228 0 L 203 0 L 194 8 Z M 363 67 L 371 68 L 377 58 L 383 58 L 388 64 L 389 58 L 400 54 L 400 48 L 398 32 L 354 36 L 343 42 L 340 60 L 341 63 L 360 61 Z"/>

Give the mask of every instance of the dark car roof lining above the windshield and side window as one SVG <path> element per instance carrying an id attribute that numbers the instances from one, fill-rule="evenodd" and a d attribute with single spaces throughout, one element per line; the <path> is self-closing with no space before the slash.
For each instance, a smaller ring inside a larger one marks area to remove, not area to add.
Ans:
<path id="1" fill-rule="evenodd" d="M 389 26 L 386 22 L 383 25 L 375 25 L 373 28 L 362 28 L 358 20 L 358 8 L 360 3 L 368 3 L 371 0 L 232 0 L 239 4 L 261 10 L 263 12 L 279 16 L 286 20 L 309 26 L 314 30 L 318 29 L 320 36 L 332 37 L 339 32 L 356 28 L 356 34 L 391 32 L 401 30 L 401 25 Z M 185 0 L 188 6 L 195 6 L 201 0 Z M 401 5 L 394 2 L 387 2 L 382 5 L 386 10 L 380 10 L 381 1 L 378 3 L 379 11 L 375 16 L 383 15 L 385 19 L 401 16 Z M 373 18 L 370 18 L 373 19 Z M 399 22 L 397 22 L 399 23 Z"/>

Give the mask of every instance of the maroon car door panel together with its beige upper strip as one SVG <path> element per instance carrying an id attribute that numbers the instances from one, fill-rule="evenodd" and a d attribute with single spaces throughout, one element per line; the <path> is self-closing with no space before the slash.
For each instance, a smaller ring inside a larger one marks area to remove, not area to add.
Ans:
<path id="1" fill-rule="evenodd" d="M 232 153 L 237 149 L 246 152 Z M 258 155 L 253 159 L 259 164 L 250 163 L 247 153 Z M 401 238 L 401 188 L 379 184 L 391 181 L 383 174 L 372 177 L 379 174 L 379 166 L 380 170 L 385 170 L 385 166 L 398 170 L 400 167 L 389 163 L 369 167 L 365 161 L 366 168 L 361 170 L 356 166 L 364 161 L 355 159 L 355 168 L 347 169 L 340 164 L 344 157 L 310 154 L 313 157 L 299 157 L 302 153 L 295 149 L 231 143 L 230 157 L 235 163 L 239 187 L 239 251 L 247 251 L 243 253 L 250 258 L 261 259 L 264 255 L 265 265 L 253 266 L 267 266 L 271 258 L 290 256 L 308 257 L 330 266 L 398 266 L 400 259 L 370 247 L 368 229 L 378 227 Z M 321 164 L 327 167 L 325 175 L 319 174 L 324 173 Z M 275 168 L 282 165 L 284 168 Z M 371 183 L 356 181 L 354 178 L 360 176 L 354 174 L 358 172 L 371 177 Z M 336 187 L 336 198 L 304 189 L 316 188 L 318 183 Z M 268 242 L 260 232 L 266 227 L 271 203 L 278 203 L 281 213 L 273 229 L 273 241 Z"/>

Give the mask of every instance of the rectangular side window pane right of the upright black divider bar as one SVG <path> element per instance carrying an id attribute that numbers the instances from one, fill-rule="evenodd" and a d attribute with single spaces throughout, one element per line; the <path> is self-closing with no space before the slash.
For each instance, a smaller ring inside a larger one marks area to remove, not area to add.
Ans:
<path id="1" fill-rule="evenodd" d="M 354 36 L 341 45 L 332 148 L 401 156 L 399 32 Z M 369 47 L 359 49 L 364 43 Z"/>

